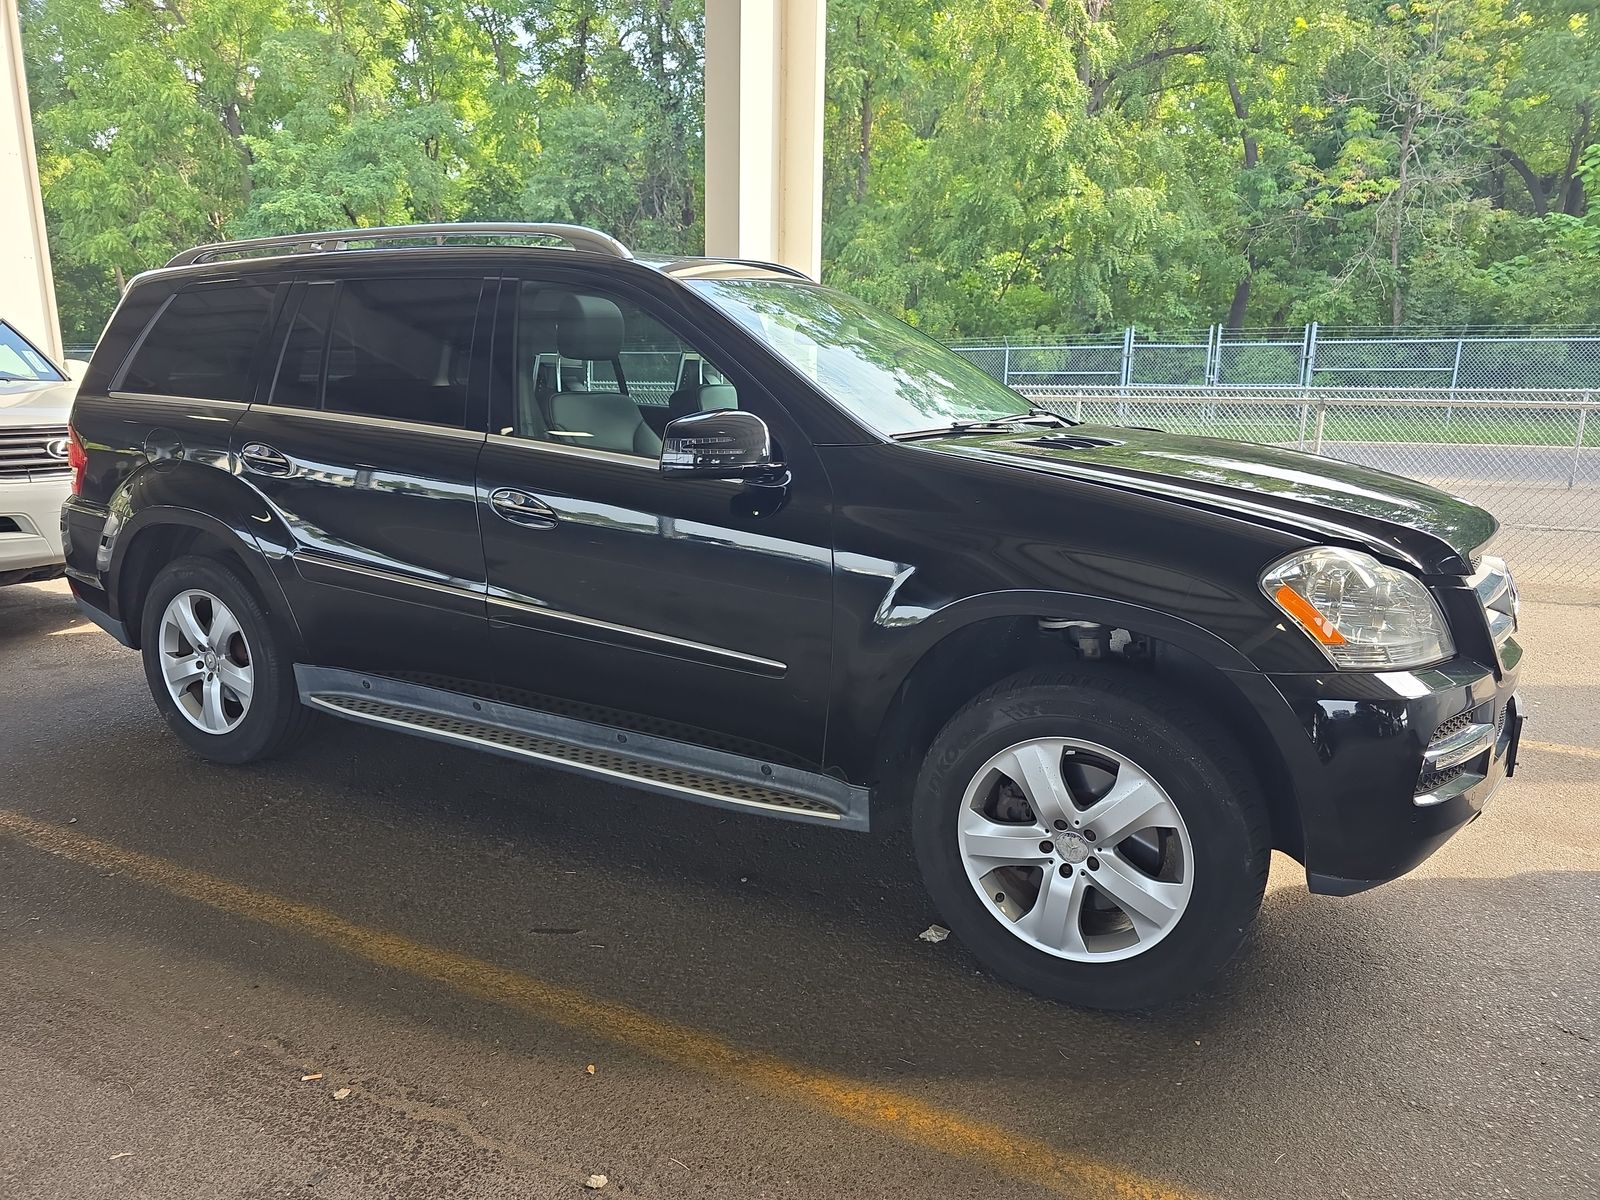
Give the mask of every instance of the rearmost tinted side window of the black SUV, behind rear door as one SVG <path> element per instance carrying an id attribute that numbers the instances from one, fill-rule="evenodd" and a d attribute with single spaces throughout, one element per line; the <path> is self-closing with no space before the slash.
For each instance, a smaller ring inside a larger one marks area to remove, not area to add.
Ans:
<path id="1" fill-rule="evenodd" d="M 213 283 L 173 296 L 122 378 L 125 392 L 251 400 L 251 366 L 275 283 Z"/>

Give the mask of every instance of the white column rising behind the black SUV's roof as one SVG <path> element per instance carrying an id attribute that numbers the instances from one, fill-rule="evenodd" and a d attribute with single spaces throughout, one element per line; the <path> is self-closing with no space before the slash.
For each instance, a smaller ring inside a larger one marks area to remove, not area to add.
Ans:
<path id="1" fill-rule="evenodd" d="M 706 0 L 706 253 L 822 269 L 827 0 Z"/>

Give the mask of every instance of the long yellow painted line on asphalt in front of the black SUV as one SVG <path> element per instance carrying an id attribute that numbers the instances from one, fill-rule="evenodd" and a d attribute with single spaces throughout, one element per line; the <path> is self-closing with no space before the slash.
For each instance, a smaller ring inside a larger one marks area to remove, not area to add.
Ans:
<path id="1" fill-rule="evenodd" d="M 979 1162 L 1058 1195 L 1074 1200 L 1190 1200 L 1194 1195 L 891 1088 L 741 1050 L 712 1034 L 653 1018 L 627 1005 L 397 933 L 357 925 L 326 909 L 83 837 L 21 813 L 0 808 L 0 835 L 46 854 L 126 875 L 219 912 L 317 938 L 379 966 L 445 984 L 462 995 L 514 1008 L 539 1021 L 603 1037 L 677 1067 L 757 1088 L 910 1146 Z"/>

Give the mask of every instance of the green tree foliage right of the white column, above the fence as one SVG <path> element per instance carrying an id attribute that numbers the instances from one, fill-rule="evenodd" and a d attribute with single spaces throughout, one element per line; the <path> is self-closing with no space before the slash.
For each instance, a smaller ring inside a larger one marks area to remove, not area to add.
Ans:
<path id="1" fill-rule="evenodd" d="M 832 0 L 834 278 L 938 333 L 1600 322 L 1589 0 Z"/>

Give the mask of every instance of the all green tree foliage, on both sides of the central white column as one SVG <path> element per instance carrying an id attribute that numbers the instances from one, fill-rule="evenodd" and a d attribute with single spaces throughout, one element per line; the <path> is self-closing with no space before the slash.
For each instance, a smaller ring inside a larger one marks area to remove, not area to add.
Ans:
<path id="1" fill-rule="evenodd" d="M 830 0 L 824 272 L 946 336 L 1600 323 L 1592 0 Z M 67 338 L 219 237 L 702 243 L 696 0 L 22 0 Z"/>

